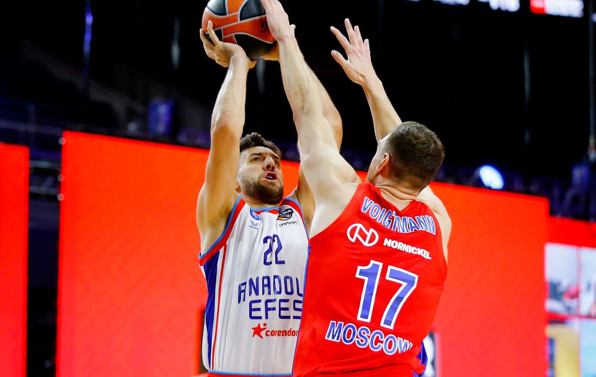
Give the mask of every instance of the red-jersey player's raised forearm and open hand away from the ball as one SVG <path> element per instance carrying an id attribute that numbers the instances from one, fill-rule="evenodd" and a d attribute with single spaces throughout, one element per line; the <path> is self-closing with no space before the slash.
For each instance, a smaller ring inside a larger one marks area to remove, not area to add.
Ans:
<path id="1" fill-rule="evenodd" d="M 374 71 L 368 39 L 362 40 L 360 28 L 358 26 L 352 28 L 349 19 L 346 18 L 345 23 L 349 39 L 335 27 L 331 27 L 331 32 L 346 50 L 347 60 L 336 50 L 331 51 L 331 55 L 342 66 L 350 80 L 364 89 L 373 115 L 375 137 L 380 141 L 399 126 L 402 120 Z"/>

